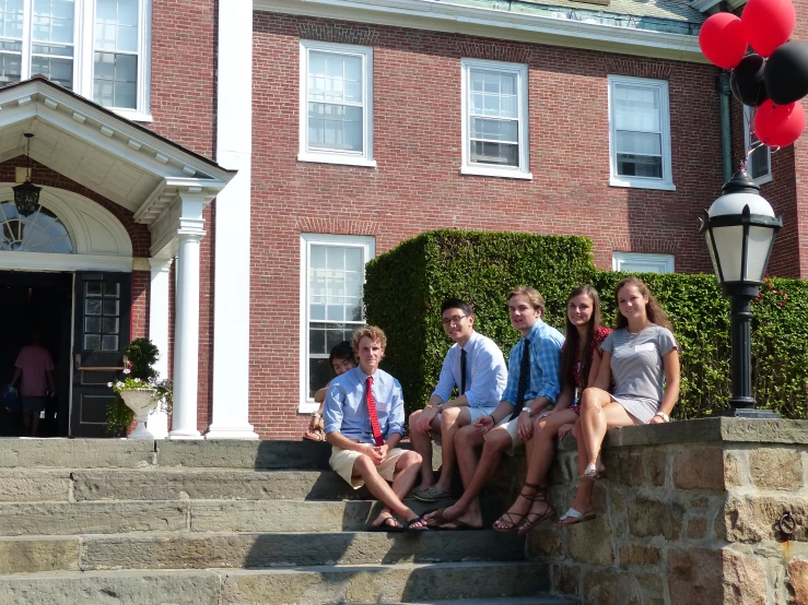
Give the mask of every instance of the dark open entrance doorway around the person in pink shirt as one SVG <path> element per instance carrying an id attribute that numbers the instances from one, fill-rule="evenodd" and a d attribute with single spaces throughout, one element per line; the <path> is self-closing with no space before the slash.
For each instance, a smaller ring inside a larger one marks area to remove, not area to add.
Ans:
<path id="1" fill-rule="evenodd" d="M 8 384 L 20 349 L 31 344 L 31 333 L 54 358 L 57 394 L 48 398 L 39 437 L 67 437 L 70 416 L 70 363 L 73 304 L 72 273 L 0 271 L 0 384 Z M 19 387 L 19 384 L 17 384 Z M 2 407 L 2 406 L 0 406 Z M 0 436 L 23 435 L 20 413 L 0 410 Z"/>

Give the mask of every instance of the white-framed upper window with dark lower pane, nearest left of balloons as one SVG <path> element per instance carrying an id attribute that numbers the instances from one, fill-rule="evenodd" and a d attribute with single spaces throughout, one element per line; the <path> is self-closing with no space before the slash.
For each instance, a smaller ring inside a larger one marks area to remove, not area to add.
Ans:
<path id="1" fill-rule="evenodd" d="M 625 75 L 608 81 L 609 185 L 675 190 L 668 83 Z"/>

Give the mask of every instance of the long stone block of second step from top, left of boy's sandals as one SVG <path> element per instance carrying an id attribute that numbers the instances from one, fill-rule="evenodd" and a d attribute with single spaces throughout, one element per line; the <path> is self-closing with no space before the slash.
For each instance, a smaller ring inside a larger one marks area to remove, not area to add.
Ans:
<path id="1" fill-rule="evenodd" d="M 71 473 L 77 500 L 342 500 L 368 498 L 332 471 L 87 468 Z M 0 482 L 3 475 L 0 473 Z"/>

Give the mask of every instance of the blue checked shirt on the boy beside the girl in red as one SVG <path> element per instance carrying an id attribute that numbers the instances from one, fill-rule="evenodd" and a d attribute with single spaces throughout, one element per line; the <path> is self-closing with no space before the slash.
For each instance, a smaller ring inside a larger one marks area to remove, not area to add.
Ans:
<path id="1" fill-rule="evenodd" d="M 561 392 L 559 370 L 564 336 L 552 325 L 538 320 L 530 329 L 527 340 L 530 341 L 530 383 L 525 393 L 525 401 L 544 396 L 550 403 L 555 403 Z M 516 401 L 524 347 L 525 336 L 519 339 L 519 342 L 511 349 L 507 360 L 507 387 L 502 395 L 503 401 L 519 407 L 525 404 L 524 401 Z"/>

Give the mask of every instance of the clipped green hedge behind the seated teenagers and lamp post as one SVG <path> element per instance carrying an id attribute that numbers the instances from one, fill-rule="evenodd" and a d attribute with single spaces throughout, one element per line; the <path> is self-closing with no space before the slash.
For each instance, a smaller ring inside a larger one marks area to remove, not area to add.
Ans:
<path id="1" fill-rule="evenodd" d="M 367 264 L 366 320 L 388 339 L 383 367 L 399 379 L 410 410 L 422 407 L 452 341 L 440 321 L 448 296 L 475 308 L 479 332 L 507 356 L 518 339 L 505 294 L 527 284 L 547 300 L 548 323 L 563 331 L 569 292 L 589 283 L 601 293 L 604 319 L 613 324 L 613 288 L 625 273 L 599 271 L 592 242 L 576 236 L 438 230 L 421 234 Z M 727 406 L 729 304 L 713 275 L 640 274 L 667 310 L 681 346 L 678 418 Z M 759 407 L 806 417 L 808 282 L 775 278 L 752 304 L 752 378 Z"/>

